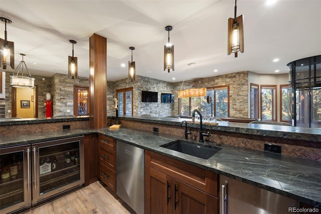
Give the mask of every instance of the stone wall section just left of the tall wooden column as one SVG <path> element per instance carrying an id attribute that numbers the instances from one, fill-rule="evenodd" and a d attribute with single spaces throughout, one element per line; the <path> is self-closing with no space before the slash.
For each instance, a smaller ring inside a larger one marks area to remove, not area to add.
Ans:
<path id="1" fill-rule="evenodd" d="M 54 74 L 51 94 L 53 116 L 74 115 L 74 85 L 89 86 L 89 78 L 72 79 L 66 74 Z"/>

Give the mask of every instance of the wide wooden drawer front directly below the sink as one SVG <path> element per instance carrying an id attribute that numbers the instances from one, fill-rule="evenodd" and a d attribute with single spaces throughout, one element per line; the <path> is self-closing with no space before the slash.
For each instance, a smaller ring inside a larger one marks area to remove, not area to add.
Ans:
<path id="1" fill-rule="evenodd" d="M 145 150 L 145 165 L 218 197 L 218 174 Z"/>

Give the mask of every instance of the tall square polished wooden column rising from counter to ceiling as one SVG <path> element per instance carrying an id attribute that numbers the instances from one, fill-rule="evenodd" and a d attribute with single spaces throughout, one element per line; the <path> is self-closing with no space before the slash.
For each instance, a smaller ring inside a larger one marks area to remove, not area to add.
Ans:
<path id="1" fill-rule="evenodd" d="M 90 128 L 107 127 L 107 39 L 90 37 Z"/>

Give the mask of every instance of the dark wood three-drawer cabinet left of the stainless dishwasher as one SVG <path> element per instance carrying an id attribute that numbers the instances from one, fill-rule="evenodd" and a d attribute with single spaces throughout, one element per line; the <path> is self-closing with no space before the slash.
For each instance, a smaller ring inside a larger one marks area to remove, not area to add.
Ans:
<path id="1" fill-rule="evenodd" d="M 98 135 L 98 177 L 116 193 L 116 140 Z"/>

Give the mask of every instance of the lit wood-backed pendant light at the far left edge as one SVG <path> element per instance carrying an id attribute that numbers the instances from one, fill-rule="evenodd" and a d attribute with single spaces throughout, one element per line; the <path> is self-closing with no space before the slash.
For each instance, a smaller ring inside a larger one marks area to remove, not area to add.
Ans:
<path id="1" fill-rule="evenodd" d="M 7 40 L 7 23 L 11 24 L 12 21 L 4 17 L 0 17 L 0 20 L 5 23 L 5 40 L 0 39 L 1 66 L 3 69 L 7 69 L 7 66 L 15 69 L 15 44 Z"/>

